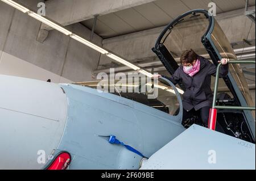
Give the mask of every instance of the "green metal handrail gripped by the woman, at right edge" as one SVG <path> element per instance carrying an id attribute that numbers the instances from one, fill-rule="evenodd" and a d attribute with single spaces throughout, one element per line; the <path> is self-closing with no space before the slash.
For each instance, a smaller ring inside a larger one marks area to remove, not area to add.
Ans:
<path id="1" fill-rule="evenodd" d="M 229 61 L 229 64 L 255 64 L 255 61 Z M 216 100 L 217 100 L 217 93 L 218 93 L 218 75 L 220 74 L 220 66 L 222 64 L 218 64 L 217 70 L 216 70 L 216 80 L 214 85 L 214 94 L 213 94 L 213 103 L 212 108 L 216 108 L 219 110 L 223 109 L 229 109 L 229 110 L 251 110 L 255 111 L 255 107 L 241 107 L 241 106 L 216 106 Z"/>

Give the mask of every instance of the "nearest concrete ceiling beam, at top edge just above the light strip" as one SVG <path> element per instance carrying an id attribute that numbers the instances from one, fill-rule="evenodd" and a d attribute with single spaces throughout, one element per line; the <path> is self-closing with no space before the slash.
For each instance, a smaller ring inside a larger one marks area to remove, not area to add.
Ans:
<path id="1" fill-rule="evenodd" d="M 155 0 L 49 0 L 46 2 L 46 16 L 68 26 L 91 19 L 94 15 L 105 15 L 152 1 Z M 51 30 L 45 24 L 41 28 Z"/>

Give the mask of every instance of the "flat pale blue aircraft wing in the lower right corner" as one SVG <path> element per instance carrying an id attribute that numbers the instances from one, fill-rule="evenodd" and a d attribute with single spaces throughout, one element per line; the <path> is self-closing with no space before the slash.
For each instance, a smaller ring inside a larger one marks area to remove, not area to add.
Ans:
<path id="1" fill-rule="evenodd" d="M 142 163 L 148 169 L 255 170 L 255 144 L 194 124 Z"/>

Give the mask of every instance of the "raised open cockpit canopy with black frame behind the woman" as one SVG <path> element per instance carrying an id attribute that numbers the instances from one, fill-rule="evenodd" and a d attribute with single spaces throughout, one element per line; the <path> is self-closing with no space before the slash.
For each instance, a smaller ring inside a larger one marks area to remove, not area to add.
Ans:
<path id="1" fill-rule="evenodd" d="M 153 52 L 172 75 L 179 67 L 184 50 L 193 49 L 197 54 L 218 65 L 221 58 L 237 60 L 224 31 L 207 10 L 192 10 L 180 15 L 160 33 Z M 223 78 L 228 87 L 233 106 L 253 107 L 250 90 L 239 64 L 229 65 L 229 74 Z M 180 87 L 184 89 L 183 85 Z M 229 102 L 230 103 L 230 102 Z M 255 138 L 255 111 L 242 111 Z"/>

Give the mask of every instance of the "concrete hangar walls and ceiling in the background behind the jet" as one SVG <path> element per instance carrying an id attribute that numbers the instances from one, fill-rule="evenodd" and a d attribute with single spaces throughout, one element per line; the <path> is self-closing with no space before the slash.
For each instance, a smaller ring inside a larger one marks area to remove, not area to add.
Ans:
<path id="1" fill-rule="evenodd" d="M 193 9 L 208 10 L 209 3 L 215 3 L 214 18 L 232 44 L 238 60 L 255 60 L 255 1 L 252 0 L 16 2 L 35 12 L 43 2 L 48 18 L 132 64 L 164 75 L 168 72 L 151 50 L 160 32 L 180 14 Z M 246 12 L 254 14 L 249 16 Z M 115 73 L 133 71 L 1 1 L 0 15 L 0 74 L 70 83 L 96 81 L 98 73 L 109 73 L 110 68 L 115 68 Z M 185 34 L 182 39 L 187 42 L 191 39 L 191 45 L 184 45 L 184 48 L 191 47 L 207 57 L 201 52 L 201 45 L 193 44 L 200 30 L 185 25 L 182 31 Z M 183 40 L 180 38 L 177 42 L 181 45 Z M 179 54 L 180 50 L 172 53 Z M 251 95 L 255 96 L 255 65 L 241 65 L 241 68 Z M 219 89 L 227 91 L 224 82 Z M 255 104 L 255 97 L 253 100 Z"/>

